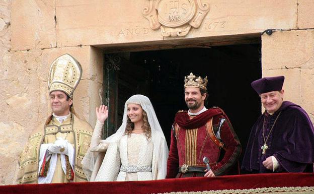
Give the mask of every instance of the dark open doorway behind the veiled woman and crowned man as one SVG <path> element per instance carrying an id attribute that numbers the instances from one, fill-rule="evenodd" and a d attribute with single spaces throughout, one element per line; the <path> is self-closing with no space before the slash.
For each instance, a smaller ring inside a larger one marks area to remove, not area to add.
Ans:
<path id="1" fill-rule="evenodd" d="M 143 94 L 150 98 L 169 146 L 174 116 L 187 109 L 184 76 L 193 72 L 207 76 L 207 107 L 219 106 L 226 112 L 243 150 L 246 148 L 251 127 L 261 113 L 260 99 L 250 85 L 262 75 L 260 44 L 124 52 L 106 55 L 105 61 L 109 58 L 118 61 L 118 66 L 106 66 L 109 104 L 111 101 L 107 135 L 120 126 L 125 101 L 133 94 Z"/>

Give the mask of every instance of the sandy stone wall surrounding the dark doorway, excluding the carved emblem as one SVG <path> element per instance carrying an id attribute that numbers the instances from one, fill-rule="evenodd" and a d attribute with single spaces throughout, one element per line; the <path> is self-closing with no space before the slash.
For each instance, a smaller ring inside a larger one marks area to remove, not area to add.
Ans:
<path id="1" fill-rule="evenodd" d="M 50 112 L 50 63 L 69 53 L 83 77 L 74 107 L 91 125 L 102 102 L 103 50 L 225 44 L 262 38 L 263 76 L 285 75 L 285 98 L 314 121 L 312 0 L 203 0 L 210 10 L 184 37 L 164 37 L 143 16 L 149 0 L 3 0 L 0 2 L 0 184 L 12 184 L 28 135 Z M 231 3 L 232 2 L 232 3 Z M 96 48 L 98 47 L 98 48 Z"/>

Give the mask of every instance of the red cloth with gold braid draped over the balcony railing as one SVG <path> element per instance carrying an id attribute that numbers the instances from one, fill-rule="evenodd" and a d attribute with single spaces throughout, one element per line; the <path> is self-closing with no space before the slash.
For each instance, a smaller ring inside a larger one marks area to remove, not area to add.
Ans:
<path id="1" fill-rule="evenodd" d="M 128 182 L 73 182 L 0 186 L 0 194 L 314 193 L 313 173 L 276 173 Z"/>

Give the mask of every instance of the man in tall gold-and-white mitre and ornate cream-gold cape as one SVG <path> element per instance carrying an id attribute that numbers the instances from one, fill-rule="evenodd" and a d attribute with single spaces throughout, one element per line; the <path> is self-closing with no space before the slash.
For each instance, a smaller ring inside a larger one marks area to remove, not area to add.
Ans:
<path id="1" fill-rule="evenodd" d="M 76 116 L 72 102 L 81 76 L 81 64 L 69 54 L 52 62 L 48 77 L 52 114 L 31 133 L 19 158 L 17 183 L 87 181 L 81 161 L 93 129 Z"/>

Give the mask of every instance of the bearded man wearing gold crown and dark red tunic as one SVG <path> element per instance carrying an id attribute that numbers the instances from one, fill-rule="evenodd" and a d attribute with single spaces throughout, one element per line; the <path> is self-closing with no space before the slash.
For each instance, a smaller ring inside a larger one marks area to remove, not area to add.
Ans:
<path id="1" fill-rule="evenodd" d="M 204 106 L 207 77 L 191 73 L 184 82 L 189 110 L 175 116 L 166 178 L 234 173 L 231 171 L 237 167 L 241 144 L 223 110 Z"/>

